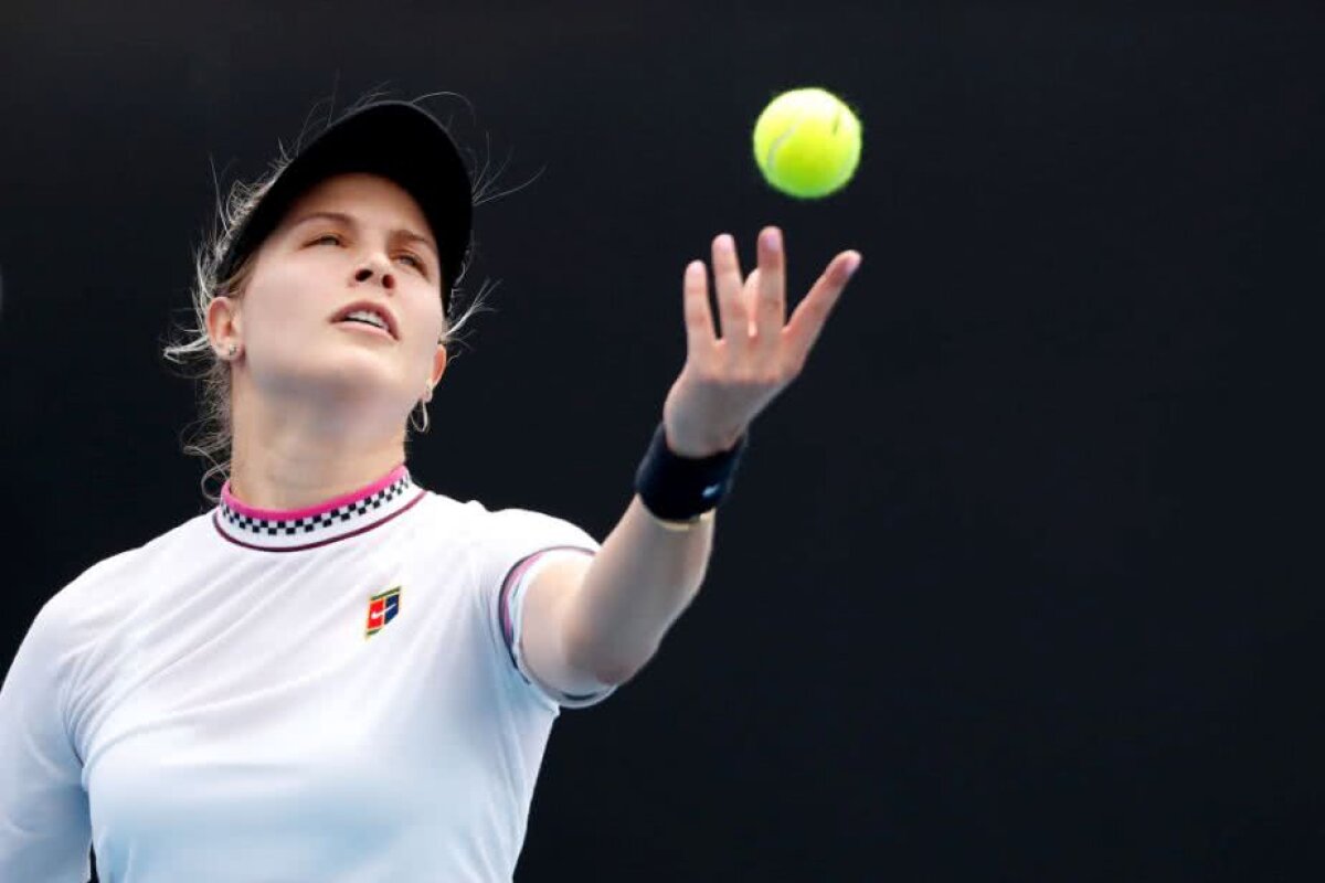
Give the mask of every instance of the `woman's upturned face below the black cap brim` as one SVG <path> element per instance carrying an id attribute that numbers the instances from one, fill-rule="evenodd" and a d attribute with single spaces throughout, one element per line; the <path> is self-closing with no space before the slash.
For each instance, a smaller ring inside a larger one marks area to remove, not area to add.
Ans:
<path id="1" fill-rule="evenodd" d="M 441 266 L 399 185 L 341 175 L 292 205 L 228 303 L 240 384 L 276 400 L 354 404 L 403 425 L 447 364 Z"/>

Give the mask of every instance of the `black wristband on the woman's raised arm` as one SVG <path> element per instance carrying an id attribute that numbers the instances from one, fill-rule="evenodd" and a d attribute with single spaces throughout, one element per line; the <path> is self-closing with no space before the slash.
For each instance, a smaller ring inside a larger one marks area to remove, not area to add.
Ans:
<path id="1" fill-rule="evenodd" d="M 660 519 L 686 522 L 698 518 L 730 492 L 745 447 L 746 436 L 741 436 L 731 450 L 698 459 L 681 457 L 666 446 L 666 430 L 659 424 L 635 471 L 635 492 Z"/>

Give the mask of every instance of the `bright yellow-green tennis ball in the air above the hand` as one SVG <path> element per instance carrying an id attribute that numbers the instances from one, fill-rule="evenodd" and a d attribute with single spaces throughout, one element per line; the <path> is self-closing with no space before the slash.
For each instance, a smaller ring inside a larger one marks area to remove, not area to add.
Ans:
<path id="1" fill-rule="evenodd" d="M 774 98 L 754 124 L 754 159 L 788 196 L 818 199 L 840 189 L 860 163 L 860 120 L 823 89 Z"/>

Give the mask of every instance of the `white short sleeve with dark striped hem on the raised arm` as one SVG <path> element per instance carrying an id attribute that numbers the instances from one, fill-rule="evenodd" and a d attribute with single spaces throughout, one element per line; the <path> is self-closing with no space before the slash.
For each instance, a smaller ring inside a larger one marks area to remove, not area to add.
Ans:
<path id="1" fill-rule="evenodd" d="M 613 687 L 590 694 L 564 694 L 538 680 L 525 662 L 521 642 L 525 589 L 546 564 L 558 557 L 595 555 L 598 549 L 598 541 L 570 522 L 525 510 L 494 512 L 492 531 L 484 543 L 480 584 L 500 651 L 513 674 L 538 698 L 562 708 L 592 706 L 611 695 Z"/>

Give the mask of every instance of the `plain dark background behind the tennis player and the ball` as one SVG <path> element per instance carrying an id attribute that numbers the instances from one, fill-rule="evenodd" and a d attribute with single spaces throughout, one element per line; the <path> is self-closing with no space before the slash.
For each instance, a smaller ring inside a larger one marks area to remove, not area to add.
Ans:
<path id="1" fill-rule="evenodd" d="M 205 504 L 158 353 L 211 168 L 333 93 L 452 90 L 529 185 L 477 216 L 435 490 L 603 536 L 685 261 L 776 222 L 799 295 L 865 256 L 705 592 L 558 724 L 518 879 L 1320 879 L 1322 38 L 1273 3 L 5 0 L 0 657 Z M 811 204 L 749 148 L 800 85 L 865 126 Z"/>

